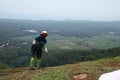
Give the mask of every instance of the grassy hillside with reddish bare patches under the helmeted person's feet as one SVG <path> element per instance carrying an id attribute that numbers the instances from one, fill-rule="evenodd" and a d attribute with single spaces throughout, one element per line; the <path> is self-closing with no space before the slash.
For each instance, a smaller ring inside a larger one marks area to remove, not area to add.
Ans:
<path id="1" fill-rule="evenodd" d="M 0 80 L 77 80 L 77 75 L 87 75 L 81 80 L 97 80 L 102 73 L 120 69 L 120 56 L 96 61 L 79 62 L 29 71 L 27 68 L 0 70 Z"/>

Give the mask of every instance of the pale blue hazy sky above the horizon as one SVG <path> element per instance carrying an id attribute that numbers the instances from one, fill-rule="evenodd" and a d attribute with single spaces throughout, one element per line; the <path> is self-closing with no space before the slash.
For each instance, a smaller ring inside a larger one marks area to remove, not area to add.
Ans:
<path id="1" fill-rule="evenodd" d="M 120 20 L 120 0 L 0 0 L 0 19 Z"/>

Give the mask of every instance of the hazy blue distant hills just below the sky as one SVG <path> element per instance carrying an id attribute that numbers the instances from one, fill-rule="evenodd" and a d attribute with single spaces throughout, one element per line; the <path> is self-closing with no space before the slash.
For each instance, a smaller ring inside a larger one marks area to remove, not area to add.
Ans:
<path id="1" fill-rule="evenodd" d="M 108 32 L 120 34 L 120 21 L 79 21 L 79 20 L 15 20 L 0 19 L 0 37 L 15 37 L 31 35 L 34 33 L 23 32 L 22 30 L 47 30 L 50 34 L 60 34 L 64 36 L 91 37 Z"/>

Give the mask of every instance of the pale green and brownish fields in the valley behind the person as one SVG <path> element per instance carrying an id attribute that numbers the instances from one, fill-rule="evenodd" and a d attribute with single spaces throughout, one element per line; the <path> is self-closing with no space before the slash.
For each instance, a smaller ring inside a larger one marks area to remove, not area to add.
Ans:
<path id="1" fill-rule="evenodd" d="M 36 35 L 16 37 L 13 40 L 31 42 Z M 113 34 L 104 34 L 89 38 L 61 36 L 50 34 L 47 38 L 48 49 L 109 49 L 120 46 L 120 37 Z"/>

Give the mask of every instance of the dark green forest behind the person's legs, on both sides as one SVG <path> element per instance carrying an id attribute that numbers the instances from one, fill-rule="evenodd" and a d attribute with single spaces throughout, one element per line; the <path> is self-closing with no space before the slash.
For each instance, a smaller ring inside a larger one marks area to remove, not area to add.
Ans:
<path id="1" fill-rule="evenodd" d="M 111 48 L 108 50 L 54 50 L 49 51 L 49 54 L 43 54 L 41 58 L 41 67 L 46 66 L 58 66 L 71 64 L 82 61 L 92 61 L 103 58 L 110 58 L 120 55 L 120 47 Z M 0 54 L 0 63 L 6 63 L 10 67 L 23 67 L 29 66 L 29 61 L 31 58 L 30 53 L 27 51 L 17 52 L 13 51 L 13 53 L 6 52 L 6 55 Z"/>

